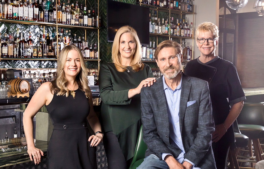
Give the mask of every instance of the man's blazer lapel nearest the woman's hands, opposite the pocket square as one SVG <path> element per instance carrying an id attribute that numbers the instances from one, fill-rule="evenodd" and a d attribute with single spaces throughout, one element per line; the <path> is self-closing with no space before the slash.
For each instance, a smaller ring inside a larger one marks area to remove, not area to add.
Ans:
<path id="1" fill-rule="evenodd" d="M 158 85 L 156 87 L 156 92 L 157 92 L 157 97 L 159 99 L 159 110 L 161 110 L 161 112 L 162 112 L 161 117 L 164 117 L 163 119 L 166 120 L 166 126 L 164 126 L 164 128 L 169 129 L 167 100 L 166 100 L 166 96 L 165 96 L 165 92 L 164 92 L 162 77 L 156 83 L 158 83 Z"/>

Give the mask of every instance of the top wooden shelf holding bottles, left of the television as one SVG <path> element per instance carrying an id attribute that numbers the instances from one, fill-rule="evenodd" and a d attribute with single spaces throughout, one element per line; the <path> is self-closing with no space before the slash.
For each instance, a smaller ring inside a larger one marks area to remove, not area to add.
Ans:
<path id="1" fill-rule="evenodd" d="M 62 28 L 82 28 L 82 29 L 100 29 L 88 26 L 78 26 L 78 25 L 64 25 L 64 24 L 55 24 L 49 22 L 35 22 L 35 21 L 20 21 L 20 20 L 13 20 L 13 19 L 0 19 L 0 22 L 9 22 L 9 23 L 16 23 L 16 24 L 27 24 L 27 25 L 40 25 L 40 26 L 53 26 L 53 27 L 62 27 Z"/>

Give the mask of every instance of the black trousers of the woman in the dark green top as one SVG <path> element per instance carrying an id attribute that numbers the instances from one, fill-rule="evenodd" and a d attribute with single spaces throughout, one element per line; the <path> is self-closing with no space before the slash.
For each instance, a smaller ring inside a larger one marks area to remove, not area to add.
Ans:
<path id="1" fill-rule="evenodd" d="M 124 154 L 118 143 L 116 135 L 112 132 L 106 132 L 103 136 L 103 145 L 107 157 L 108 169 L 127 169 L 132 159 L 125 160 Z"/>

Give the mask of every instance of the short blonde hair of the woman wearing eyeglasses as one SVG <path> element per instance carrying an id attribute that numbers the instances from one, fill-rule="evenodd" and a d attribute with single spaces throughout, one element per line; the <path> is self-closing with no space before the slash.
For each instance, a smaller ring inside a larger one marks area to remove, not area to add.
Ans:
<path id="1" fill-rule="evenodd" d="M 217 40 L 219 38 L 218 27 L 212 22 L 202 22 L 200 25 L 198 25 L 195 31 L 196 42 L 197 42 L 198 35 L 201 32 L 210 32 L 211 34 L 213 34 L 214 38 L 216 38 Z"/>

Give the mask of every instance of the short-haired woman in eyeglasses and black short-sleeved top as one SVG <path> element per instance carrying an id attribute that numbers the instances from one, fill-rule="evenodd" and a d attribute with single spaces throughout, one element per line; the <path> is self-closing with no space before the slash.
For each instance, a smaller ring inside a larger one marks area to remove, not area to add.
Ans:
<path id="1" fill-rule="evenodd" d="M 211 22 L 203 22 L 197 27 L 195 39 L 201 55 L 188 62 L 185 74 L 206 80 L 209 84 L 215 122 L 212 147 L 216 168 L 224 169 L 229 147 L 235 141 L 233 122 L 246 97 L 233 63 L 215 54 L 218 33 L 218 27 Z"/>

